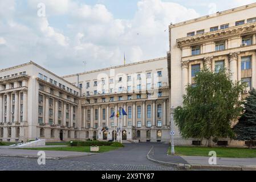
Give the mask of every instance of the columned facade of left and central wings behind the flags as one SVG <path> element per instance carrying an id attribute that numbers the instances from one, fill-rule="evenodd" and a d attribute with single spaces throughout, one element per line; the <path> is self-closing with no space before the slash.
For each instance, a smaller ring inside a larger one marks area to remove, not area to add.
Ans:
<path id="1" fill-rule="evenodd" d="M 169 142 L 167 72 L 166 57 L 64 77 L 32 61 L 2 69 L 0 140 Z"/>

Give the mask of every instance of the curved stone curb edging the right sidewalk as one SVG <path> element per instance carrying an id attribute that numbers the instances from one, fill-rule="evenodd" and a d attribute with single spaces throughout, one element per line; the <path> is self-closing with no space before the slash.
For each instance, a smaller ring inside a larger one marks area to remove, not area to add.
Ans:
<path id="1" fill-rule="evenodd" d="M 178 163 L 168 163 L 162 162 L 159 160 L 155 160 L 149 157 L 149 154 L 153 150 L 154 146 L 152 146 L 151 150 L 147 154 L 147 159 L 151 160 L 154 163 L 162 164 L 164 166 L 176 167 L 179 169 L 212 169 L 216 171 L 256 171 L 256 166 L 224 166 L 224 165 L 206 165 L 206 164 L 178 164 Z"/>

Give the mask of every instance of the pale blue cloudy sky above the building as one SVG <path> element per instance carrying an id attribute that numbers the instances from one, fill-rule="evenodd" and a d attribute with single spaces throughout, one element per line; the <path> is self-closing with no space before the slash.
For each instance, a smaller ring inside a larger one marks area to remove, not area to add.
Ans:
<path id="1" fill-rule="evenodd" d="M 253 2 L 0 0 L 0 69 L 32 60 L 63 76 L 123 64 L 124 52 L 127 63 L 166 56 L 170 22 Z"/>

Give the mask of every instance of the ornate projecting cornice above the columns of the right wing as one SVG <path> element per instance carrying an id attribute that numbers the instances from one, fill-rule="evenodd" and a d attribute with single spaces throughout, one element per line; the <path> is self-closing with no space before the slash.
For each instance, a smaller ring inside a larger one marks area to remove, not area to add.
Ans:
<path id="1" fill-rule="evenodd" d="M 204 44 L 208 42 L 216 42 L 218 40 L 225 40 L 237 36 L 243 36 L 256 32 L 256 23 L 243 24 L 241 26 L 235 26 L 226 28 L 224 30 L 218 30 L 214 32 L 207 32 L 201 35 L 195 35 L 191 37 L 177 39 L 178 48 L 195 46 L 198 44 Z"/>

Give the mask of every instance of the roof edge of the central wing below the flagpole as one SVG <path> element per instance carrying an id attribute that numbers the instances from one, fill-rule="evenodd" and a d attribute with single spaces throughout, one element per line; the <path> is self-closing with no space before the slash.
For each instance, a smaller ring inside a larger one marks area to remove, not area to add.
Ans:
<path id="1" fill-rule="evenodd" d="M 136 64 L 150 63 L 150 62 L 153 62 L 153 61 L 159 61 L 159 60 L 165 60 L 165 59 L 167 59 L 166 56 L 165 57 L 159 57 L 159 58 L 156 58 L 156 59 L 137 61 L 135 63 L 129 63 L 129 64 L 125 64 L 125 65 L 117 65 L 117 66 L 114 66 L 114 67 L 108 67 L 108 68 L 103 68 L 103 69 L 95 69 L 95 70 L 92 70 L 92 71 L 78 73 L 78 74 L 74 74 L 74 75 L 66 75 L 66 76 L 63 76 L 63 78 L 78 76 L 78 75 L 86 75 L 88 73 L 101 72 L 101 71 L 106 71 L 106 70 L 115 69 L 115 68 L 123 68 L 123 67 L 128 67 L 128 66 L 132 66 L 132 65 L 136 65 Z"/>

